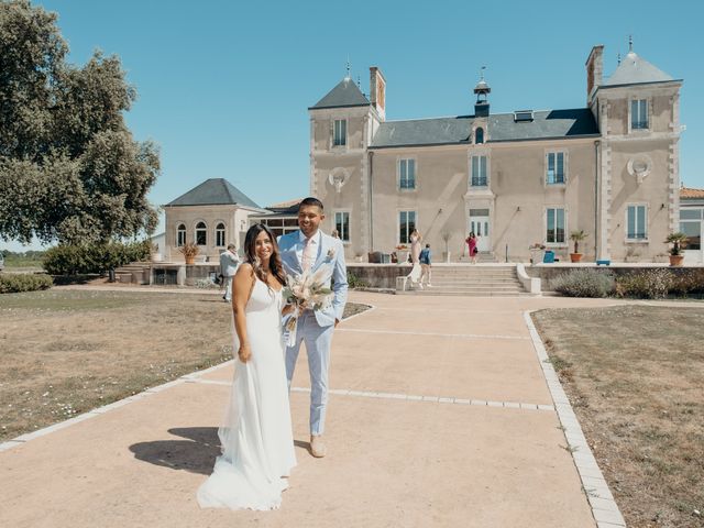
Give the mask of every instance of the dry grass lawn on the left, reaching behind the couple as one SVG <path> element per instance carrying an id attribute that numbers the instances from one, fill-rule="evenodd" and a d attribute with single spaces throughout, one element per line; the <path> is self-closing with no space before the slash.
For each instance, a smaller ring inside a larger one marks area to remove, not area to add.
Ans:
<path id="1" fill-rule="evenodd" d="M 230 314 L 213 294 L 1 295 L 0 441 L 231 359 Z"/>

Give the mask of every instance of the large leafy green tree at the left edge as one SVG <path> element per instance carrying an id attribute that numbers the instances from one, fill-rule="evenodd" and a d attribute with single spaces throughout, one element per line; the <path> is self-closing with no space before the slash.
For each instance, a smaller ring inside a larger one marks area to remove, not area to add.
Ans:
<path id="1" fill-rule="evenodd" d="M 56 14 L 0 0 L 0 237 L 102 243 L 153 232 L 157 147 L 123 112 L 136 98 L 120 59 L 66 62 Z"/>

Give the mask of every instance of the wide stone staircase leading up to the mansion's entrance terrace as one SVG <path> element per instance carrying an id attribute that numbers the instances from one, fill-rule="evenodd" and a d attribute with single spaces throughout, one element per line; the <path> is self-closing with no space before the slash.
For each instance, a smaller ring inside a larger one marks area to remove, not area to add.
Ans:
<path id="1" fill-rule="evenodd" d="M 431 287 L 414 288 L 410 280 L 404 295 L 455 295 L 468 297 L 522 296 L 527 294 L 510 264 L 433 264 Z"/>

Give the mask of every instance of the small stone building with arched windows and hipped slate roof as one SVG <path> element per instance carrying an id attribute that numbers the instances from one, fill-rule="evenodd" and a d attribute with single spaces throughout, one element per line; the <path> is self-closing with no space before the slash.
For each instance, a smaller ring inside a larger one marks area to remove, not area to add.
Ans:
<path id="1" fill-rule="evenodd" d="M 182 262 L 178 251 L 186 242 L 199 246 L 199 260 L 218 262 L 228 244 L 242 248 L 250 215 L 262 209 L 227 179 L 211 178 L 164 206 L 165 260 Z"/>

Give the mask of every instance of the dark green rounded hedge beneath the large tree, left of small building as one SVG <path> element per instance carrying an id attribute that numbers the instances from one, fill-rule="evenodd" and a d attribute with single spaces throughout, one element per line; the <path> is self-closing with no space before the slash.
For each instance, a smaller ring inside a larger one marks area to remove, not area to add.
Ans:
<path id="1" fill-rule="evenodd" d="M 57 245 L 46 251 L 43 264 L 52 275 L 106 273 L 130 262 L 148 260 L 150 251 L 148 240 L 129 244 Z"/>

